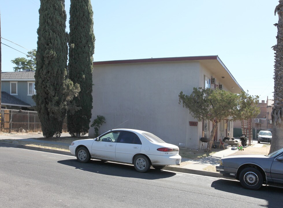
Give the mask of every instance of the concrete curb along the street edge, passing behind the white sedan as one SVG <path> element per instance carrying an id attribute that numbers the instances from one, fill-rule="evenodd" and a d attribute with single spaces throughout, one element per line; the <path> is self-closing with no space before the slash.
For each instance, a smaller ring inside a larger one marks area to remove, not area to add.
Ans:
<path id="1" fill-rule="evenodd" d="M 71 153 L 68 152 L 68 151 L 48 149 L 48 148 L 42 148 L 42 147 L 34 147 L 34 146 L 25 146 L 25 145 L 21 145 L 21 144 L 12 144 L 12 143 L 7 143 L 7 142 L 0 142 L 0 146 L 22 148 L 22 149 L 29 149 L 29 150 L 35 150 L 35 151 L 41 151 L 41 152 L 47 152 L 47 153 L 55 153 L 55 154 L 60 154 L 60 155 L 74 156 L 74 155 L 71 155 Z M 223 178 L 223 175 L 220 174 L 220 173 L 217 173 L 217 172 L 209 172 L 209 171 L 203 171 L 203 170 L 192 170 L 192 169 L 188 169 L 188 168 L 179 168 L 179 167 L 174 167 L 174 166 L 165 166 L 165 168 L 163 168 L 163 170 L 170 170 L 170 171 L 175 171 L 175 172 L 182 172 L 182 173 L 190 173 L 190 174 L 196 174 L 196 175 L 202 175 L 202 176 Z"/>

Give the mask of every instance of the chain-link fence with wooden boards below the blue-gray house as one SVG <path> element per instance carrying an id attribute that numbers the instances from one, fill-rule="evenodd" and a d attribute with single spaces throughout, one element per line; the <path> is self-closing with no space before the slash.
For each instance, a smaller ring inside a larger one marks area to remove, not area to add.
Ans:
<path id="1" fill-rule="evenodd" d="M 38 132 L 41 123 L 36 111 L 1 109 L 1 132 Z M 67 131 L 66 118 L 63 130 Z"/>

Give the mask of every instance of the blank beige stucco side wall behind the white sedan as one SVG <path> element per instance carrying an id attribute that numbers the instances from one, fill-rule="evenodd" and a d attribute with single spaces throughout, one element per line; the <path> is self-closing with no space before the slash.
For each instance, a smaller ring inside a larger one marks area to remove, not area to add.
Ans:
<path id="1" fill-rule="evenodd" d="M 149 131 L 166 142 L 197 149 L 202 122 L 198 127 L 189 126 L 196 119 L 178 104 L 178 95 L 180 91 L 189 95 L 193 87 L 202 86 L 203 74 L 199 76 L 199 62 L 94 65 L 91 122 L 102 115 L 106 123 L 100 133 L 119 125 L 117 128 Z M 94 135 L 93 127 L 89 135 Z"/>

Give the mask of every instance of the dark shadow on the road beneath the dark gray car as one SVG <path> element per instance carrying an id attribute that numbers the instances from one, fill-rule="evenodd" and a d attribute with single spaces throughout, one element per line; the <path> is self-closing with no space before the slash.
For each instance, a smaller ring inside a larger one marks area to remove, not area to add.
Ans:
<path id="1" fill-rule="evenodd" d="M 266 200 L 268 203 L 267 207 L 270 208 L 280 207 L 280 204 L 282 204 L 282 188 L 278 187 L 263 185 L 259 190 L 254 191 L 243 188 L 239 181 L 228 179 L 219 179 L 217 181 L 213 181 L 211 187 L 215 188 L 216 190 L 227 192 L 227 194 L 225 194 L 226 197 L 227 195 L 231 194 L 233 203 L 237 200 L 241 200 L 241 196 L 249 196 L 252 198 Z M 240 196 L 235 196 L 234 194 Z"/>

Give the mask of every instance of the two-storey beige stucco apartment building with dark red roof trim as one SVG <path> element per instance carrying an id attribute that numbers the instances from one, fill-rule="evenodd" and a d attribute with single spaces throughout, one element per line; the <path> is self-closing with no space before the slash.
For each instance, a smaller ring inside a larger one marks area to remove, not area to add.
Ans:
<path id="1" fill-rule="evenodd" d="M 212 123 L 194 119 L 178 104 L 179 93 L 190 95 L 193 87 L 243 91 L 217 55 L 93 64 L 91 123 L 97 115 L 105 117 L 100 133 L 117 127 L 140 129 L 179 147 L 199 149 L 200 138 L 209 137 Z M 94 136 L 93 127 L 89 136 Z M 219 124 L 215 140 L 225 136 L 233 136 L 233 122 L 228 119 Z"/>

